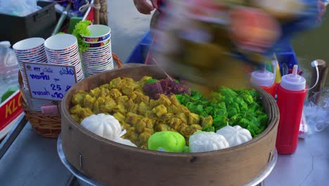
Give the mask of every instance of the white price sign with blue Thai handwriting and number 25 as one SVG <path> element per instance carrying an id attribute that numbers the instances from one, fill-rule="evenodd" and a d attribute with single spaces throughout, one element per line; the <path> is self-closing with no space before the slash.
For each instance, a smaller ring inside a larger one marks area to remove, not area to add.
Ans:
<path id="1" fill-rule="evenodd" d="M 77 83 L 75 66 L 24 62 L 25 75 L 33 98 L 60 101 Z"/>

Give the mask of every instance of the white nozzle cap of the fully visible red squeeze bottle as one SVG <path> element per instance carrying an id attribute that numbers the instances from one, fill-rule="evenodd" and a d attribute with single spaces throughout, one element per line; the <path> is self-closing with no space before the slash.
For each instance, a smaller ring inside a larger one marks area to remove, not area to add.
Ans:
<path id="1" fill-rule="evenodd" d="M 295 65 L 292 69 L 292 73 L 283 75 L 281 78 L 280 86 L 284 89 L 299 91 L 305 89 L 306 80 L 304 77 L 297 74 L 298 66 Z"/>

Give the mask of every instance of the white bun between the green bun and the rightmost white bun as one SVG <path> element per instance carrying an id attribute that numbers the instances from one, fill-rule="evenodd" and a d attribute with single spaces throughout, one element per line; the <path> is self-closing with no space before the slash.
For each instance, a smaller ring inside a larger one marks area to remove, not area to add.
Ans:
<path id="1" fill-rule="evenodd" d="M 230 147 L 225 137 L 214 132 L 198 132 L 191 135 L 190 140 L 191 152 L 217 151 Z"/>

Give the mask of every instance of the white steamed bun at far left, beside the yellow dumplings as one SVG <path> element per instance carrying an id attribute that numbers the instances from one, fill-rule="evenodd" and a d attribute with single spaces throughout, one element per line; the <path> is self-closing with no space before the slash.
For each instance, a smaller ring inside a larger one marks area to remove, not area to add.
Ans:
<path id="1" fill-rule="evenodd" d="M 86 130 L 112 141 L 117 140 L 126 132 L 115 117 L 104 113 L 84 118 L 81 125 Z"/>

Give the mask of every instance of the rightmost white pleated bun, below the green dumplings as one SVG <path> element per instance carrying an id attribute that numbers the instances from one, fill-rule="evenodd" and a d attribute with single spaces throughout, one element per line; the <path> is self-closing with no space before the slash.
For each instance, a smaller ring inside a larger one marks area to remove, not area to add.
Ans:
<path id="1" fill-rule="evenodd" d="M 234 147 L 252 140 L 252 135 L 250 134 L 249 130 L 241 128 L 239 125 L 234 127 L 227 125 L 226 127 L 217 130 L 216 133 L 223 135 L 228 144 L 230 144 L 230 147 Z"/>

